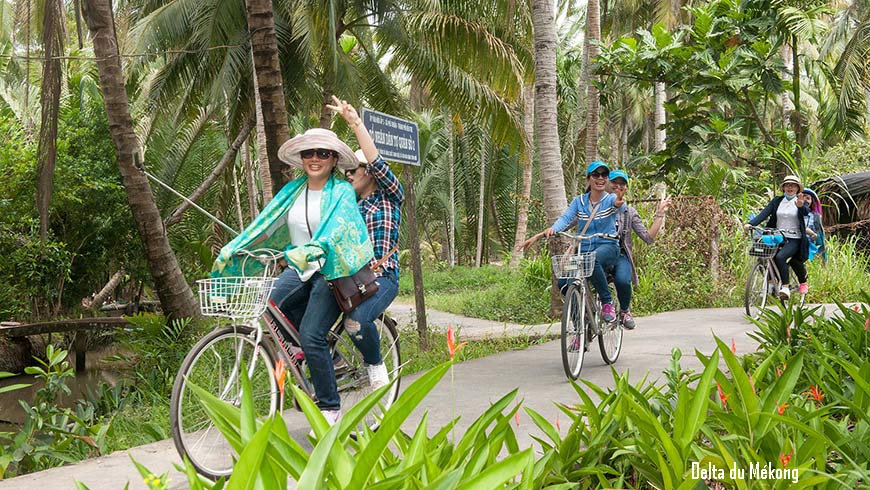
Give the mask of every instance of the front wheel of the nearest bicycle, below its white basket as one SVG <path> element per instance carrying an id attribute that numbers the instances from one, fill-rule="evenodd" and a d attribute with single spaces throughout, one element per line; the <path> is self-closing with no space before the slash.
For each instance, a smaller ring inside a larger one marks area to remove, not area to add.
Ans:
<path id="1" fill-rule="evenodd" d="M 271 416 L 278 411 L 280 393 L 273 374 L 275 354 L 263 342 L 254 358 L 254 334 L 254 329 L 244 325 L 210 332 L 184 358 L 172 387 L 169 419 L 175 448 L 182 458 L 187 456 L 197 472 L 214 480 L 232 473 L 238 455 L 215 427 L 190 383 L 239 406 L 240 372 L 253 361 L 251 390 L 255 412 Z"/>

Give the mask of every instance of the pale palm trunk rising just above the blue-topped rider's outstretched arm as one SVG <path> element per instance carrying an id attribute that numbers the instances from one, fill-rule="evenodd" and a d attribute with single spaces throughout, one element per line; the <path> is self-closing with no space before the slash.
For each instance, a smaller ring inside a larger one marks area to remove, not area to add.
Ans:
<path id="1" fill-rule="evenodd" d="M 553 3 L 532 0 L 535 38 L 535 133 L 541 165 L 544 211 L 553 223 L 565 211 L 565 177 L 556 122 L 556 33 Z"/>

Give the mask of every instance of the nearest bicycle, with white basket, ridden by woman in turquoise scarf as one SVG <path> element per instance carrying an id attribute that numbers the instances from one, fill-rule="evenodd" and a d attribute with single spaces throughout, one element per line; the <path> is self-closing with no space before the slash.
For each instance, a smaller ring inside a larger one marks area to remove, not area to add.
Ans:
<path id="1" fill-rule="evenodd" d="M 230 326 L 206 334 L 190 350 L 175 378 L 170 401 L 172 439 L 179 455 L 190 460 L 200 474 L 217 480 L 232 473 L 238 455 L 206 414 L 188 383 L 193 383 L 232 405 L 241 403 L 241 369 L 246 367 L 253 393 L 254 410 L 273 416 L 283 407 L 283 389 L 276 379 L 276 366 L 283 361 L 291 382 L 316 401 L 306 374 L 305 353 L 299 331 L 269 299 L 275 277 L 270 272 L 283 254 L 273 250 L 241 251 L 267 265 L 256 277 L 211 278 L 197 281 L 203 315 L 229 319 Z M 244 265 L 242 270 L 245 270 Z M 386 314 L 375 322 L 381 339 L 381 354 L 391 384 L 380 406 L 366 415 L 364 423 L 376 430 L 379 417 L 396 400 L 401 382 L 401 355 L 396 322 Z M 343 315 L 328 334 L 343 408 L 360 402 L 372 390 L 362 355 L 342 335 Z M 298 402 L 294 406 L 301 410 Z"/>

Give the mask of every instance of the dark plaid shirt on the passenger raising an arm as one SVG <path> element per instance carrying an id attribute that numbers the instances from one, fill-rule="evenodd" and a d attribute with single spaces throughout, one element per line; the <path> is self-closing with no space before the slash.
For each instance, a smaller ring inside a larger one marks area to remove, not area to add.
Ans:
<path id="1" fill-rule="evenodd" d="M 368 165 L 366 171 L 371 175 L 378 188 L 368 197 L 359 201 L 359 211 L 363 215 L 366 226 L 369 229 L 369 238 L 375 248 L 375 258 L 371 265 L 381 260 L 393 247 L 399 243 L 399 224 L 402 220 L 402 202 L 405 195 L 402 193 L 402 184 L 396 178 L 387 162 L 380 155 L 374 162 Z M 396 278 L 399 277 L 399 252 L 394 252 L 390 258 L 381 265 L 381 272 L 392 271 Z"/>

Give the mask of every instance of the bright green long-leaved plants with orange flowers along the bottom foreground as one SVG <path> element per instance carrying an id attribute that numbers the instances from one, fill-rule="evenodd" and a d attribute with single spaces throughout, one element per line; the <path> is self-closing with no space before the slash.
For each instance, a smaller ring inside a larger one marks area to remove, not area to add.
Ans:
<path id="1" fill-rule="evenodd" d="M 865 303 L 870 295 L 863 293 Z M 759 351 L 738 355 L 716 339 L 700 373 L 684 369 L 675 350 L 666 383 L 636 385 L 614 372 L 615 387 L 574 384 L 579 402 L 561 406 L 558 424 L 526 409 L 544 437 L 541 454 L 521 450 L 511 423 L 509 393 L 478 417 L 458 442 L 456 421 L 434 436 L 427 417 L 413 434 L 400 430 L 451 363 L 415 381 L 385 414 L 381 429 L 350 434 L 386 388 L 328 427 L 317 407 L 296 391 L 316 433 L 309 454 L 284 421 L 256 419 L 250 388 L 242 408 L 206 392 L 202 401 L 240 453 L 229 487 L 286 488 L 855 488 L 868 481 L 870 436 L 870 310 L 839 305 L 839 316 L 816 310 L 768 312 L 755 333 Z M 721 367 L 724 363 L 726 369 Z M 588 390 L 588 391 L 587 391 Z M 698 468 L 713 468 L 701 476 Z M 743 470 L 731 476 L 730 470 Z M 717 471 L 721 470 L 721 472 Z M 188 465 L 191 488 L 222 488 Z M 149 475 L 151 478 L 153 475 Z M 152 480 L 154 481 L 154 480 Z M 244 486 L 244 485 L 243 485 Z"/>

